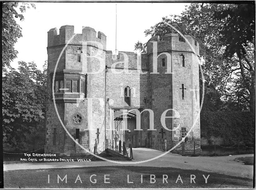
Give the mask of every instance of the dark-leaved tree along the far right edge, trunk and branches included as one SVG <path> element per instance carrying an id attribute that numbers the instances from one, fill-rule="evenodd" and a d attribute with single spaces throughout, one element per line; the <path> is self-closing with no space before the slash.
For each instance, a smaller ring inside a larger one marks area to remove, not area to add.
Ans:
<path id="1" fill-rule="evenodd" d="M 216 12 L 215 18 L 224 22 L 220 31 L 221 42 L 226 46 L 225 56 L 234 57 L 239 63 L 236 68 L 240 70 L 236 74 L 236 83 L 248 92 L 238 92 L 238 98 L 243 97 L 250 105 L 250 110 L 255 112 L 255 7 L 253 4 L 242 4 L 233 8 L 226 8 L 222 12 Z M 240 88 L 241 89 L 241 88 Z M 238 90 L 240 91 L 240 90 Z"/>

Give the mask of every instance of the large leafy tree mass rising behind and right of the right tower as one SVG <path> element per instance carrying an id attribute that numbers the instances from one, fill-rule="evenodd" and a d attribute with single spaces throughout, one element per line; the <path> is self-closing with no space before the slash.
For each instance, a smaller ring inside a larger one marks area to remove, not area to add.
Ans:
<path id="1" fill-rule="evenodd" d="M 254 4 L 192 3 L 181 15 L 163 20 L 199 42 L 205 85 L 218 90 L 225 102 L 219 109 L 233 110 L 235 106 L 254 113 Z M 171 32 L 177 33 L 159 22 L 144 33 L 159 35 L 161 40 Z M 141 44 L 137 42 L 135 48 L 143 48 Z"/>

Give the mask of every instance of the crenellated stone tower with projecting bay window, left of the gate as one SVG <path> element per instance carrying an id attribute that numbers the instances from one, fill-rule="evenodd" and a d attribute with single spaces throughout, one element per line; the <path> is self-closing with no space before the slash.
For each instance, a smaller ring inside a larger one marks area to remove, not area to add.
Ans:
<path id="1" fill-rule="evenodd" d="M 74 34 L 70 25 L 61 26 L 59 34 L 52 28 L 47 51 L 51 99 L 46 113 L 46 152 L 85 152 L 64 131 L 53 93 L 64 126 L 79 144 L 92 150 L 95 142 L 104 140 L 106 35 L 90 27 L 83 27 L 82 34 Z"/>

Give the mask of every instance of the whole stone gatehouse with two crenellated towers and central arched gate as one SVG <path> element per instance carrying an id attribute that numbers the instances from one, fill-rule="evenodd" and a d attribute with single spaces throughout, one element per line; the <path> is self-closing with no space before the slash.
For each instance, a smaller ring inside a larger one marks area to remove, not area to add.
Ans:
<path id="1" fill-rule="evenodd" d="M 147 53 L 137 55 L 108 51 L 104 33 L 90 27 L 82 34 L 74 34 L 70 25 L 59 34 L 50 29 L 46 152 L 85 152 L 74 140 L 91 152 L 94 146 L 103 151 L 106 140 L 114 146 L 130 141 L 133 147 L 152 147 L 154 140 L 170 150 L 188 133 L 186 154 L 194 152 L 194 145 L 199 154 L 199 44 L 185 37 L 188 41 L 173 33 L 161 41 L 154 36 Z"/>

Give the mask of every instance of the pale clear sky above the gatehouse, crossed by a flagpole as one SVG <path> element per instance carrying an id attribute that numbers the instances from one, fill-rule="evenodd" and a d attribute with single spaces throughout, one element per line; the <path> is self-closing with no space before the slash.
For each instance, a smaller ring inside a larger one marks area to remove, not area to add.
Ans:
<path id="1" fill-rule="evenodd" d="M 23 14 L 24 21 L 16 20 L 22 28 L 22 37 L 15 44 L 18 61 L 34 61 L 42 70 L 47 60 L 47 32 L 51 28 L 74 25 L 74 32 L 82 34 L 82 26 L 90 26 L 107 36 L 107 50 L 115 49 L 117 6 L 117 49 L 134 51 L 139 40 L 147 42 L 144 30 L 149 29 L 170 14 L 181 14 L 189 3 L 35 3 Z"/>

